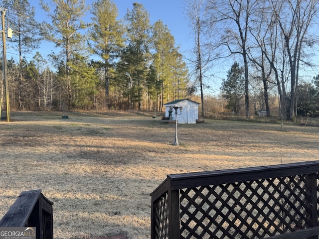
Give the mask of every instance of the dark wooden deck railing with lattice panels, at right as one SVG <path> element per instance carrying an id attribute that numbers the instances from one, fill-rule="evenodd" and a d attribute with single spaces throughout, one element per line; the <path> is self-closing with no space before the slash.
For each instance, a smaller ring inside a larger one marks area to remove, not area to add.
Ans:
<path id="1" fill-rule="evenodd" d="M 167 175 L 151 239 L 318 239 L 319 161 Z"/>

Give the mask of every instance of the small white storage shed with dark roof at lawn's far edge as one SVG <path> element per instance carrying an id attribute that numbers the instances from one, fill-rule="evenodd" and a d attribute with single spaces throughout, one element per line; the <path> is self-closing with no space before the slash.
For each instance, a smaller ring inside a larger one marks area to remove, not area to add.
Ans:
<path id="1" fill-rule="evenodd" d="M 198 119 L 198 106 L 200 104 L 191 100 L 183 99 L 168 102 L 165 106 L 165 117 L 169 116 L 170 107 L 182 107 L 181 115 L 179 109 L 177 110 L 177 123 L 196 123 Z M 175 110 L 172 109 L 171 119 L 175 120 Z"/>

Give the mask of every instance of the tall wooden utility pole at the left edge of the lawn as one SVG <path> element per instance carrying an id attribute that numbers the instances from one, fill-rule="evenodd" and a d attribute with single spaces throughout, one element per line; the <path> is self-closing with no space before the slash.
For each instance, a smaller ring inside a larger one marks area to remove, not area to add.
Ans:
<path id="1" fill-rule="evenodd" d="M 5 46 L 5 23 L 4 23 L 4 15 L 6 9 L 2 7 L 1 9 L 1 19 L 2 19 L 2 45 L 3 45 L 3 52 L 2 52 L 2 92 L 3 92 L 3 83 L 5 88 L 5 102 L 6 102 L 6 119 L 10 121 L 10 104 L 9 104 L 9 91 L 8 91 L 8 82 L 6 78 L 6 46 Z M 2 107 L 2 95 L 1 95 L 1 104 Z M 1 108 L 0 108 L 1 111 Z M 1 113 L 0 113 L 1 115 Z"/>

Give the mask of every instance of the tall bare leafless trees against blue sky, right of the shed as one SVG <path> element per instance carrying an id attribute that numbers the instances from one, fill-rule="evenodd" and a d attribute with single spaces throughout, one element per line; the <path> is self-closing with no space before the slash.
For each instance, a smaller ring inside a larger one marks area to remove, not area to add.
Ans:
<path id="1" fill-rule="evenodd" d="M 235 63 L 228 72 L 228 79 L 224 79 L 221 86 L 231 110 L 238 114 L 238 107 L 244 101 L 244 115 L 246 118 L 253 115 L 254 107 L 250 103 L 259 85 L 262 88 L 260 106 L 264 107 L 267 116 L 271 112 L 270 98 L 277 95 L 281 118 L 298 117 L 302 106 L 301 91 L 305 90 L 304 83 L 309 82 L 305 79 L 309 74 L 307 70 L 314 71 L 318 66 L 318 60 L 316 62 L 312 58 L 318 56 L 319 1 L 187 2 L 188 16 L 192 19 L 198 43 L 194 51 L 197 57 L 194 65 L 198 69 L 199 85 L 203 84 L 205 76 L 211 74 L 209 69 L 212 65 L 221 64 L 220 59 L 233 59 Z M 242 71 L 241 78 L 233 82 L 231 79 L 238 76 L 239 69 Z M 231 85 L 233 83 L 240 84 Z M 233 92 L 236 97 L 229 98 L 230 87 L 240 90 Z"/>

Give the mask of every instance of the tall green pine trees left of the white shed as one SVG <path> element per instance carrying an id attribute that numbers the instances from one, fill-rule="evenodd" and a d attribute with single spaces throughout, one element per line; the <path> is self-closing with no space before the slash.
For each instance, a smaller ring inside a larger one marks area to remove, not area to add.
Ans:
<path id="1" fill-rule="evenodd" d="M 123 19 L 112 0 L 40 5 L 47 20 L 38 23 L 28 0 L 3 1 L 13 31 L 7 45 L 19 52 L 18 61 L 7 61 L 11 109 L 162 111 L 187 97 L 188 68 L 174 37 L 161 20 L 150 23 L 142 4 L 133 3 Z M 56 51 L 24 57 L 43 41 Z"/>

